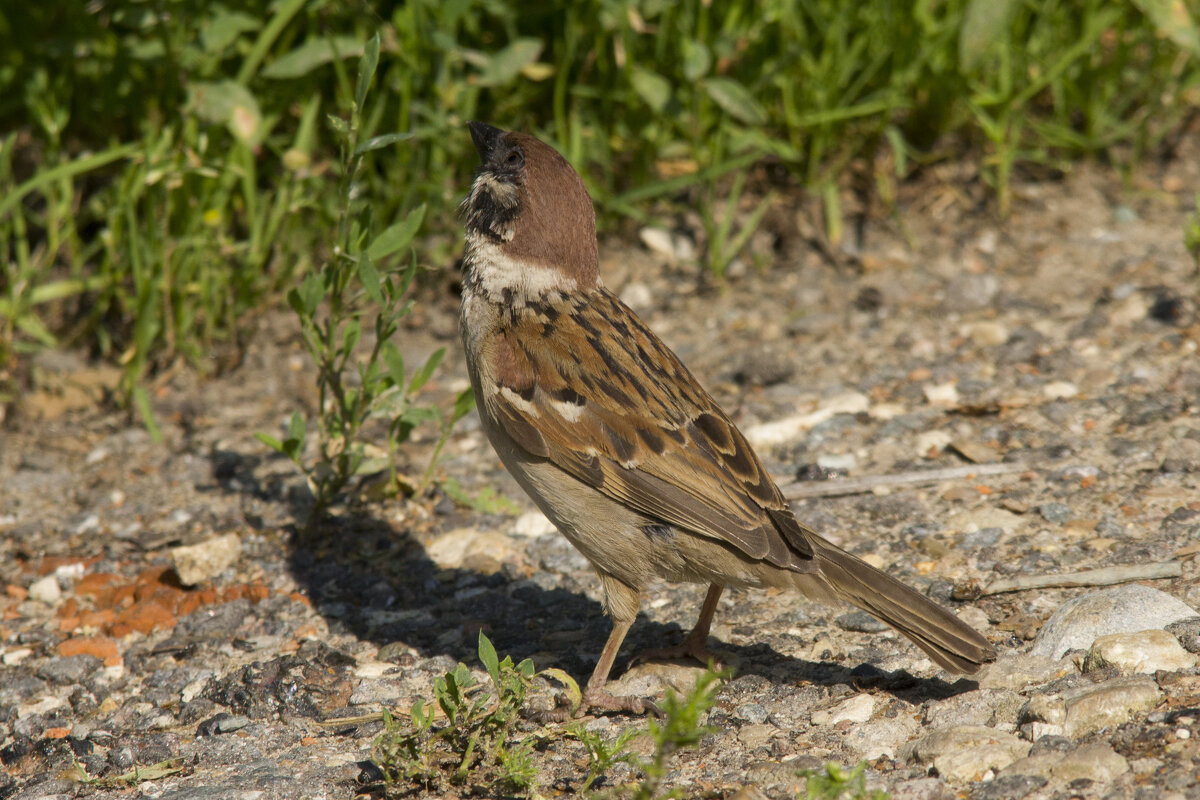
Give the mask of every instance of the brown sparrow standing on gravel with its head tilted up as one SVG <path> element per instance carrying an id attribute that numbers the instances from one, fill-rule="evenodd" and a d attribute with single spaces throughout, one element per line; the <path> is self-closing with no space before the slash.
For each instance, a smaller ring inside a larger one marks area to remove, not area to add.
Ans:
<path id="1" fill-rule="evenodd" d="M 654 657 L 707 661 L 724 588 L 776 587 L 848 601 L 947 670 L 995 660 L 948 610 L 796 519 L 737 426 L 605 288 L 595 210 L 570 163 L 527 133 L 468 127 L 481 166 L 461 209 L 461 327 L 482 429 L 592 564 L 612 618 L 575 714 L 653 710 L 605 684 L 656 578 L 709 589 L 695 628 Z"/>

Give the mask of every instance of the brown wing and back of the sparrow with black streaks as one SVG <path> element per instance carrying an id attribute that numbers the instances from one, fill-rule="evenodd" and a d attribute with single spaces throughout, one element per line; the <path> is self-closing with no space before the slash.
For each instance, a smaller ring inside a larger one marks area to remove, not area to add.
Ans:
<path id="1" fill-rule="evenodd" d="M 492 343 L 498 390 L 481 399 L 521 447 L 648 517 L 808 570 L 806 531 L 745 438 L 614 295 L 508 321 Z"/>

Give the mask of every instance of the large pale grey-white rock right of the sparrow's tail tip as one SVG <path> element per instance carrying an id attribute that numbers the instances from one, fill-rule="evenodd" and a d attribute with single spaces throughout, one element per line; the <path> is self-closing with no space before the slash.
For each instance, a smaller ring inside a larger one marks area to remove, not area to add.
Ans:
<path id="1" fill-rule="evenodd" d="M 1099 636 L 1162 628 L 1200 616 L 1165 591 L 1134 583 L 1075 597 L 1038 631 L 1031 655 L 1060 658 L 1068 650 L 1087 650 Z"/>

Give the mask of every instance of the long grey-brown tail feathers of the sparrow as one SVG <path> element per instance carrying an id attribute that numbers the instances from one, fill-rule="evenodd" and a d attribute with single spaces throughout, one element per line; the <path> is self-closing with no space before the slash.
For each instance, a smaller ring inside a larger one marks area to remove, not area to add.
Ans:
<path id="1" fill-rule="evenodd" d="M 940 667 L 972 674 L 996 660 L 996 650 L 978 631 L 929 597 L 821 536 L 809 536 L 817 563 L 834 594 L 900 631 Z"/>

